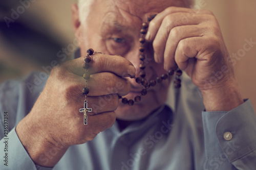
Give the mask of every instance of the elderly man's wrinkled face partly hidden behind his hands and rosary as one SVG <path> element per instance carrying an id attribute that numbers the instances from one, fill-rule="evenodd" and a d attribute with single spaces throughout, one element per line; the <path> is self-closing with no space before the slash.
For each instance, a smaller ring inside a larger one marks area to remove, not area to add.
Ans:
<path id="1" fill-rule="evenodd" d="M 136 77 L 139 77 L 141 61 L 138 49 L 142 22 L 146 21 L 147 16 L 159 13 L 170 6 L 184 5 L 177 0 L 95 1 L 91 8 L 87 9 L 90 10 L 88 19 L 76 30 L 77 34 L 86 38 L 86 40 L 82 38 L 83 41 L 80 44 L 81 56 L 86 56 L 88 48 L 109 55 L 121 55 L 133 63 L 136 68 Z M 144 64 L 148 81 L 155 80 L 158 76 L 166 73 L 163 63 L 158 64 L 154 61 L 152 43 L 146 45 L 146 56 Z M 134 79 L 129 78 L 129 81 L 131 82 L 131 91 L 123 97 L 134 100 L 135 96 L 141 95 L 140 91 L 143 88 Z M 149 115 L 164 104 L 169 82 L 169 80 L 164 80 L 161 84 L 157 83 L 156 86 L 149 88 L 147 95 L 142 96 L 141 102 L 135 102 L 134 106 L 124 105 L 119 101 L 116 110 L 117 118 L 138 120 Z"/>

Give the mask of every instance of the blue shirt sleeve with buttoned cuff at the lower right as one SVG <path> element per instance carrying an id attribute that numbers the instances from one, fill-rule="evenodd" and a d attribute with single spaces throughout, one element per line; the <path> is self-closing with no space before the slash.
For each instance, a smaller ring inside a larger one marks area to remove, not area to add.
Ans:
<path id="1" fill-rule="evenodd" d="M 250 100 L 231 111 L 202 113 L 204 169 L 256 169 L 256 115 Z"/>

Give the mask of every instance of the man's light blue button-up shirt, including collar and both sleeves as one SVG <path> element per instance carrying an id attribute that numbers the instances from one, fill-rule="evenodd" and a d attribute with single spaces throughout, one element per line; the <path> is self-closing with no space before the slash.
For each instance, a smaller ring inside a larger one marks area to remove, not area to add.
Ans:
<path id="1" fill-rule="evenodd" d="M 35 165 L 15 132 L 46 80 L 34 72 L 0 85 L 0 169 L 52 169 Z M 256 169 L 256 116 L 249 100 L 229 112 L 204 112 L 202 96 L 185 74 L 182 88 L 171 85 L 169 94 L 168 106 L 146 119 L 121 132 L 115 123 L 92 141 L 71 146 L 53 169 Z M 8 112 L 7 137 L 4 112 Z M 54 157 L 57 149 L 46 151 L 41 161 Z"/>

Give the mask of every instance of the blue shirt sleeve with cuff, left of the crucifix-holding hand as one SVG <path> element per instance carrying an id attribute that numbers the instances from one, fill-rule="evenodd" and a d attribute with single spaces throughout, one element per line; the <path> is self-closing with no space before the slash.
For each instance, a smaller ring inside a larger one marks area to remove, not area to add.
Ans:
<path id="1" fill-rule="evenodd" d="M 52 169 L 34 164 L 15 131 L 44 89 L 46 80 L 40 72 L 32 72 L 24 79 L 0 84 L 0 169 Z"/>

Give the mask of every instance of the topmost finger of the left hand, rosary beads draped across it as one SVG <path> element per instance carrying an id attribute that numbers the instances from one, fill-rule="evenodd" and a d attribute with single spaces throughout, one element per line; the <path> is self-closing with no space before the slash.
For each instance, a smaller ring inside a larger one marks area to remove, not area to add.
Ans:
<path id="1" fill-rule="evenodd" d="M 112 72 L 122 77 L 134 77 L 135 67 L 133 64 L 123 57 L 109 56 L 101 53 L 96 53 L 90 56 L 91 62 L 88 69 L 89 74 L 95 74 L 97 72 Z M 73 74 L 82 76 L 85 69 L 82 67 L 84 63 L 84 57 L 77 58 L 63 64 L 62 67 L 69 70 Z"/>

